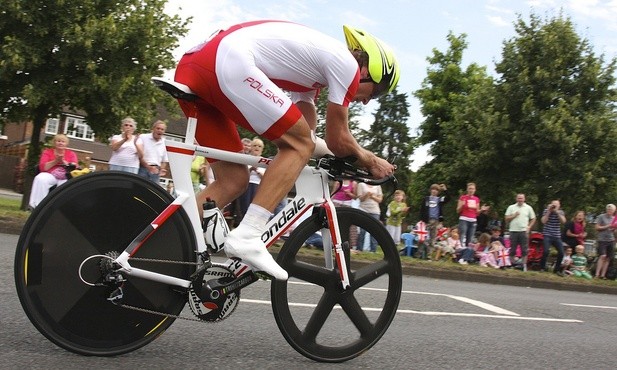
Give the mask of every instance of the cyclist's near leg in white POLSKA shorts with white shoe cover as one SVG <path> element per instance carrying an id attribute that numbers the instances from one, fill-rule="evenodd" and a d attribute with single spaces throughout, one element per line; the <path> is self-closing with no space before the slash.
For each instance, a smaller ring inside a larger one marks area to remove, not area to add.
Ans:
<path id="1" fill-rule="evenodd" d="M 211 52 L 212 48 L 216 53 Z M 244 48 L 235 48 L 232 43 L 208 44 L 201 51 L 182 58 L 175 79 L 188 85 L 228 120 L 260 133 L 277 145 L 279 152 L 269 165 L 244 219 L 229 234 L 225 250 L 229 256 L 242 258 L 257 271 L 286 279 L 287 273 L 267 252 L 261 234 L 271 212 L 308 161 L 314 142 L 300 110 L 251 58 Z M 225 63 L 217 65 L 219 59 Z M 246 78 L 238 78 L 239 75 Z M 264 99 L 262 91 L 271 94 L 268 99 Z M 246 104 L 247 101 L 251 104 Z M 211 140 L 211 137 L 206 139 Z M 236 142 L 237 151 L 242 150 L 239 137 Z"/>

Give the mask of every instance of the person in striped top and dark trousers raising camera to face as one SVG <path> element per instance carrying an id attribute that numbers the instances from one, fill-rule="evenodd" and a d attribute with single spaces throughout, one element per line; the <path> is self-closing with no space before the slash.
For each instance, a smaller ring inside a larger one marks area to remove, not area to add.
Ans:
<path id="1" fill-rule="evenodd" d="M 540 268 L 546 271 L 546 260 L 548 258 L 551 245 L 557 249 L 557 260 L 553 272 L 561 274 L 561 260 L 563 259 L 563 242 L 561 241 L 561 224 L 566 223 L 566 215 L 561 209 L 559 200 L 551 201 L 542 212 L 540 219 L 544 224 L 542 236 L 544 238 L 544 253 L 540 261 Z"/>

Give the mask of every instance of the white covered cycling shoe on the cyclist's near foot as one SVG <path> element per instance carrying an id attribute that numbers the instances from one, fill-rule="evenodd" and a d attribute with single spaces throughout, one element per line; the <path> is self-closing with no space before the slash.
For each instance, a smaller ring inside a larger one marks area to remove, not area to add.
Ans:
<path id="1" fill-rule="evenodd" d="M 253 230 L 239 226 L 227 235 L 225 240 L 227 257 L 240 258 L 242 262 L 251 266 L 253 271 L 265 272 L 277 280 L 287 280 L 287 271 L 283 270 L 268 252 L 261 241 L 260 233 L 251 231 Z"/>

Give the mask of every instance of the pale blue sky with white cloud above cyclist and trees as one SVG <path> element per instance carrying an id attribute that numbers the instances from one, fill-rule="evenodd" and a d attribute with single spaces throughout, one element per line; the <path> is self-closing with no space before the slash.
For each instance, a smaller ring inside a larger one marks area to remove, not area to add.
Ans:
<path id="1" fill-rule="evenodd" d="M 341 41 L 343 24 L 364 28 L 388 43 L 397 55 L 401 64 L 399 92 L 410 97 L 408 124 L 413 133 L 423 118 L 412 93 L 426 76 L 426 58 L 432 49 L 446 50 L 448 32 L 467 34 L 465 65 L 477 63 L 493 73 L 503 41 L 514 36 L 517 14 L 528 19 L 532 11 L 542 17 L 563 11 L 597 54 L 604 53 L 607 58 L 617 55 L 617 0 L 170 0 L 166 7 L 169 14 L 193 17 L 189 33 L 174 52 L 177 59 L 214 30 L 248 20 L 290 20 Z M 375 108 L 373 104 L 366 107 L 364 123 L 370 124 Z M 416 151 L 412 168 L 426 160 L 426 150 Z"/>

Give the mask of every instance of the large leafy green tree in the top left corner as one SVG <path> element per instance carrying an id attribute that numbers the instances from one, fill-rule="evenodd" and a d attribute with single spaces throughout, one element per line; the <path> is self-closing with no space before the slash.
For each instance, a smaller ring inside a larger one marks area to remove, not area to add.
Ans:
<path id="1" fill-rule="evenodd" d="M 0 119 L 32 121 L 29 168 L 41 128 L 64 109 L 85 111 L 100 138 L 125 116 L 152 119 L 162 95 L 149 79 L 174 66 L 171 51 L 187 31 L 165 3 L 2 0 Z"/>

